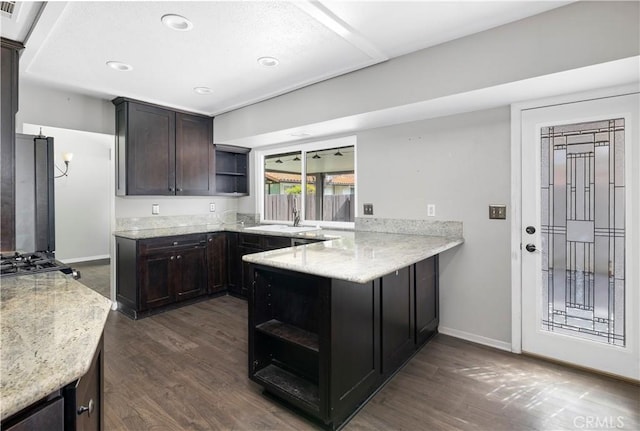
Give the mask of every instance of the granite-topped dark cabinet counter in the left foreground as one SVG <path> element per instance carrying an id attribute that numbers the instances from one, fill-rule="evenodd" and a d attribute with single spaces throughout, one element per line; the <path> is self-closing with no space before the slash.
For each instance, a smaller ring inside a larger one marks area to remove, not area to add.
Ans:
<path id="1" fill-rule="evenodd" d="M 59 271 L 3 277 L 0 297 L 2 428 L 103 429 L 111 301 Z M 39 422 L 44 416 L 52 422 Z"/>

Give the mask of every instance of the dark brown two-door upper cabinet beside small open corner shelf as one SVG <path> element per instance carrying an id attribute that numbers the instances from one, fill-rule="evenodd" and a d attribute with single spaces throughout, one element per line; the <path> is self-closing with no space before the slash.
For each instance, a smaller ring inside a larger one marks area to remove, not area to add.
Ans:
<path id="1" fill-rule="evenodd" d="M 213 118 L 119 97 L 116 194 L 215 194 Z"/>

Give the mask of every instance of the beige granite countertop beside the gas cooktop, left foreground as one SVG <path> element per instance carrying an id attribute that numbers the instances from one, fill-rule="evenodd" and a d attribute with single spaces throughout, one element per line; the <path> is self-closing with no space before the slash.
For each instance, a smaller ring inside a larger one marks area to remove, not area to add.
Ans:
<path id="1" fill-rule="evenodd" d="M 110 308 L 59 271 L 2 278 L 0 419 L 89 371 Z"/>

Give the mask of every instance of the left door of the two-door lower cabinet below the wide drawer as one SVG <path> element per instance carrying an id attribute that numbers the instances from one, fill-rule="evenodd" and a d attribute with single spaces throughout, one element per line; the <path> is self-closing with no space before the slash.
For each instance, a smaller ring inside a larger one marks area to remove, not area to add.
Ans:
<path id="1" fill-rule="evenodd" d="M 140 310 L 160 307 L 174 301 L 172 252 L 154 253 L 140 258 Z"/>

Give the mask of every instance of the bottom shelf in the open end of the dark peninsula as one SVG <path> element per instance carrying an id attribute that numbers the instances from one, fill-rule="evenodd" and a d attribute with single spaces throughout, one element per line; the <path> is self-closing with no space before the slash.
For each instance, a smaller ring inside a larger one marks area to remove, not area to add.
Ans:
<path id="1" fill-rule="evenodd" d="M 313 411 L 320 411 L 320 395 L 315 383 L 273 364 L 256 372 L 254 376 L 267 384 L 267 387 L 277 389 L 282 393 L 280 395 L 302 402 Z M 279 395 L 277 392 L 276 394 Z"/>

